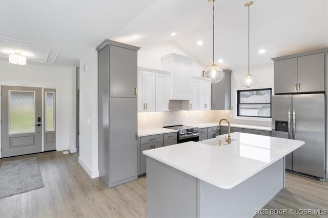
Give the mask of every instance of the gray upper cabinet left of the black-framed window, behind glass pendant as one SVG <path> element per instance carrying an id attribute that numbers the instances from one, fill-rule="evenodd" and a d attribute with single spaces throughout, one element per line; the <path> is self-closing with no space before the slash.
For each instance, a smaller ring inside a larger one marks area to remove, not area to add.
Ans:
<path id="1" fill-rule="evenodd" d="M 218 83 L 212 84 L 212 110 L 231 109 L 231 70 L 223 69 L 224 76 Z"/>

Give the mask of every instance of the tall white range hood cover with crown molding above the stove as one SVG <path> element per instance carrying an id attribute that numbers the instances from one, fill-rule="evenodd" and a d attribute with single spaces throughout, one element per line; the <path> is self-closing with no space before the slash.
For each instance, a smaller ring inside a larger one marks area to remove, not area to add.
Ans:
<path id="1" fill-rule="evenodd" d="M 170 71 L 170 100 L 192 100 L 193 61 L 178 54 L 161 57 L 162 68 Z"/>

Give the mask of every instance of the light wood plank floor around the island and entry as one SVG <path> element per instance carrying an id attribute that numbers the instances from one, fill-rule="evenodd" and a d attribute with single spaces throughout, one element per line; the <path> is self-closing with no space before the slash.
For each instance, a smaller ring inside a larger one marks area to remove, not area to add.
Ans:
<path id="1" fill-rule="evenodd" d="M 76 154 L 48 152 L 0 159 L 36 157 L 44 188 L 0 199 L 0 217 L 145 217 L 146 177 L 108 188 L 99 178 L 90 179 Z M 1 179 L 1 178 L 0 178 Z M 247 201 L 247 199 L 245 199 Z M 286 173 L 286 187 L 263 209 L 326 209 L 328 183 Z M 267 214 L 255 217 L 303 217 Z M 305 215 L 305 217 L 328 217 Z"/>

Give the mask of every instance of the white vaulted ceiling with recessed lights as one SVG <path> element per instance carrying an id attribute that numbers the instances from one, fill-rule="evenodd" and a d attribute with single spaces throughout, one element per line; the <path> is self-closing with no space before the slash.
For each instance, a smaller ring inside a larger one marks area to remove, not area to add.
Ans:
<path id="1" fill-rule="evenodd" d="M 215 1 L 215 61 L 223 59 L 221 67 L 248 64 L 246 2 Z M 206 66 L 212 60 L 212 7 L 208 0 L 1 0 L 0 56 L 20 47 L 33 53 L 28 61 L 78 66 L 105 39 L 141 47 L 172 41 Z M 328 0 L 255 0 L 250 7 L 251 65 L 322 47 L 328 47 Z"/>

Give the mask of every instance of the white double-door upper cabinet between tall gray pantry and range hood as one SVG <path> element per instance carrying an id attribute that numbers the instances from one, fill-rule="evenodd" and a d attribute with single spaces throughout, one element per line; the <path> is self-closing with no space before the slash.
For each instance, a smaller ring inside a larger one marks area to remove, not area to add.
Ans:
<path id="1" fill-rule="evenodd" d="M 170 72 L 138 67 L 138 112 L 169 111 Z"/>

